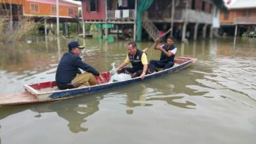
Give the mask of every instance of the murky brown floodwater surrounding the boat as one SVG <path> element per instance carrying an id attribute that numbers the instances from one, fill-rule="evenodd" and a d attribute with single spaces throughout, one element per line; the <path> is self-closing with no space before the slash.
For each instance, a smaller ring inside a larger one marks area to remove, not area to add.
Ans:
<path id="1" fill-rule="evenodd" d="M 34 37 L 31 44 L 1 45 L 0 94 L 54 81 L 69 41 L 85 45 L 84 62 L 110 71 L 112 62 L 125 59 L 128 43 L 112 38 Z M 0 107 L 0 143 L 256 143 L 256 39 L 176 46 L 177 56 L 198 61 L 177 73 L 79 98 Z M 160 53 L 151 47 L 147 54 L 158 59 Z"/>

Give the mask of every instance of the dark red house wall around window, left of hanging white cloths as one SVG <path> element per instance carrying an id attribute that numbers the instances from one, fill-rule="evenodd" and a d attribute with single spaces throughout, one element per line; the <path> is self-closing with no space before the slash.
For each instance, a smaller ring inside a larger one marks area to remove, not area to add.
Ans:
<path id="1" fill-rule="evenodd" d="M 106 5 L 105 0 L 97 0 L 96 12 L 87 11 L 87 3 L 89 0 L 82 1 L 83 20 L 105 20 L 106 18 Z"/>

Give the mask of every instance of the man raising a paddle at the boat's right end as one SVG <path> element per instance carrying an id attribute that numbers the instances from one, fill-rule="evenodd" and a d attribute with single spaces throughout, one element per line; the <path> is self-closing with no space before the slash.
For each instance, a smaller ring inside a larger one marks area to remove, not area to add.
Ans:
<path id="1" fill-rule="evenodd" d="M 155 45 L 156 50 L 161 51 L 160 60 L 150 60 L 150 69 L 148 73 L 154 73 L 158 71 L 158 67 L 163 69 L 169 69 L 174 65 L 174 57 L 177 52 L 177 48 L 174 44 L 175 39 L 172 36 L 167 38 L 167 44 L 165 45 L 158 45 L 158 42 Z"/>

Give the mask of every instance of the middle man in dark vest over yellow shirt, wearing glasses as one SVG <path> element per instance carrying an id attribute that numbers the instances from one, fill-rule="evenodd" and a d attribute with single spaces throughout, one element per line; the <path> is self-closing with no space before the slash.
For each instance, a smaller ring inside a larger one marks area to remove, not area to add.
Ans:
<path id="1" fill-rule="evenodd" d="M 127 46 L 128 54 L 123 63 L 116 68 L 116 70 L 121 69 L 122 73 L 129 72 L 131 73 L 131 77 L 139 77 L 144 79 L 147 69 L 148 69 L 148 59 L 146 58 L 146 54 L 137 48 L 136 43 L 131 42 Z M 133 67 L 125 67 L 128 63 L 131 62 Z"/>

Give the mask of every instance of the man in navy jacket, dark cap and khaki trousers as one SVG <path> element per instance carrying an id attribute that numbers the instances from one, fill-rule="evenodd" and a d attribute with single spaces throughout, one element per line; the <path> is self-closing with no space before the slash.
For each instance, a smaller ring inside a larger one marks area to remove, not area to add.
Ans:
<path id="1" fill-rule="evenodd" d="M 60 90 L 68 88 L 77 88 L 81 84 L 95 85 L 98 84 L 95 75 L 99 76 L 100 81 L 104 82 L 104 78 L 90 65 L 84 63 L 81 58 L 81 49 L 85 48 L 80 46 L 77 42 L 70 42 L 68 44 L 68 52 L 66 52 L 58 63 L 56 71 L 56 82 Z M 81 73 L 79 69 L 83 69 L 88 73 Z"/>

